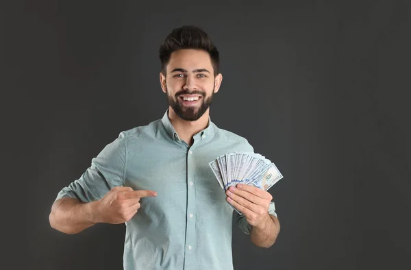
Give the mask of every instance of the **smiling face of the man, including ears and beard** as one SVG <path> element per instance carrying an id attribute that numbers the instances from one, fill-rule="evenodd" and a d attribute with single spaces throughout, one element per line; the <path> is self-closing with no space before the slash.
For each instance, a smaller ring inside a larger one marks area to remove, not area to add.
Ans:
<path id="1" fill-rule="evenodd" d="M 208 52 L 196 49 L 174 51 L 166 76 L 160 73 L 160 84 L 169 105 L 186 121 L 195 121 L 208 110 L 221 79 L 221 74 L 214 77 Z"/>

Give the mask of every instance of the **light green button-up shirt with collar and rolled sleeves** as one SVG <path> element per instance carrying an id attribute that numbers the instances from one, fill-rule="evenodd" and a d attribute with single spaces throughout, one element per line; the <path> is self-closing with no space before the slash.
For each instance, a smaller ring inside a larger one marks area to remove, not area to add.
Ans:
<path id="1" fill-rule="evenodd" d="M 167 110 L 158 121 L 121 132 L 56 200 L 96 201 L 115 186 L 156 191 L 157 197 L 140 199 L 137 214 L 125 223 L 124 269 L 233 269 L 233 210 L 208 163 L 234 151 L 253 147 L 210 118 L 190 146 L 175 132 Z M 276 215 L 273 203 L 269 213 Z M 249 234 L 251 225 L 234 214 Z"/>

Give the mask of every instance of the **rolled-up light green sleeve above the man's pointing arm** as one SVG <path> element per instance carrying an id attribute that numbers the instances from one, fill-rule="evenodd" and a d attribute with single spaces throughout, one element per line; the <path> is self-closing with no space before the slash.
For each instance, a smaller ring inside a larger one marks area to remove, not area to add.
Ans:
<path id="1" fill-rule="evenodd" d="M 55 201 L 73 197 L 82 202 L 97 201 L 115 186 L 122 186 L 127 166 L 127 136 L 123 132 L 92 158 L 91 166 L 79 179 L 62 188 Z"/>

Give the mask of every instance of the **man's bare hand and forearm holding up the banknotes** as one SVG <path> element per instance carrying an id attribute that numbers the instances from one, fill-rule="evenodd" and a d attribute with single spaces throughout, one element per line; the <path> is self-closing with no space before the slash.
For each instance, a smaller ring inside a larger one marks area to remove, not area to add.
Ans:
<path id="1" fill-rule="evenodd" d="M 279 221 L 269 214 L 273 196 L 247 184 L 230 186 L 226 194 L 227 201 L 241 211 L 251 225 L 251 241 L 258 247 L 271 247 L 279 234 Z"/>

